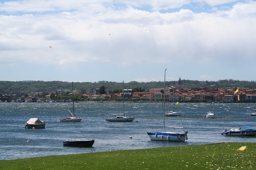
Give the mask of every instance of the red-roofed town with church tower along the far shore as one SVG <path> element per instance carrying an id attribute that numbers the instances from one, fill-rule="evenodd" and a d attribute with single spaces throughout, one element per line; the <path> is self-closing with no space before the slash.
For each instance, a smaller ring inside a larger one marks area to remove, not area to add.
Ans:
<path id="1" fill-rule="evenodd" d="M 104 86 L 103 86 L 104 88 Z M 68 93 L 65 96 L 58 90 L 51 95 L 43 95 L 42 92 L 30 92 L 27 96 L 0 94 L 0 103 L 22 103 L 22 102 L 71 102 L 73 95 L 77 102 L 102 102 L 102 101 L 130 101 L 130 102 L 156 102 L 163 101 L 164 94 L 166 102 L 256 102 L 256 89 L 227 87 L 221 88 L 191 88 L 183 89 L 179 78 L 177 87 L 166 86 L 165 89 L 149 89 L 147 91 L 132 92 L 132 89 L 123 89 L 118 93 L 109 93 L 102 88 L 79 90 Z"/>

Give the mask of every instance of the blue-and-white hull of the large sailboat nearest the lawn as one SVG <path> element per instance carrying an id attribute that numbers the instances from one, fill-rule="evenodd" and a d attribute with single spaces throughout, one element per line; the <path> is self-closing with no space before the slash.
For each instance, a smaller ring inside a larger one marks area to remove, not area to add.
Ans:
<path id="1" fill-rule="evenodd" d="M 161 141 L 185 141 L 187 140 L 186 133 L 176 132 L 147 132 L 147 135 L 151 140 Z"/>

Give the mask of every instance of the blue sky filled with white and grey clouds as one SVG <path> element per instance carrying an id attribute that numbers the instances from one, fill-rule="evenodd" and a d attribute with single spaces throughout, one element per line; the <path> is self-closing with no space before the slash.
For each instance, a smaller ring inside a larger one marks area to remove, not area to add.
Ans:
<path id="1" fill-rule="evenodd" d="M 0 81 L 256 81 L 254 0 L 1 0 Z"/>

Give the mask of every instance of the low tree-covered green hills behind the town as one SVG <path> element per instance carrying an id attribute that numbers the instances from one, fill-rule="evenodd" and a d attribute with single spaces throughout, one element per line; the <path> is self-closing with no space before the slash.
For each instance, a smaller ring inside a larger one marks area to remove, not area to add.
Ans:
<path id="1" fill-rule="evenodd" d="M 181 80 L 183 89 L 210 87 L 210 88 L 256 88 L 256 81 L 239 81 L 239 80 L 219 80 L 219 81 L 197 81 L 197 80 Z M 166 86 L 177 87 L 178 81 L 166 81 Z M 122 82 L 98 81 L 98 82 L 74 82 L 74 90 L 89 90 L 104 86 L 106 90 L 122 89 Z M 149 90 L 153 88 L 164 88 L 163 81 L 137 82 L 131 81 L 124 84 L 125 89 L 141 88 Z M 67 81 L 0 81 L 1 94 L 17 94 L 22 95 L 30 92 L 55 92 L 56 90 L 72 90 L 72 83 Z"/>

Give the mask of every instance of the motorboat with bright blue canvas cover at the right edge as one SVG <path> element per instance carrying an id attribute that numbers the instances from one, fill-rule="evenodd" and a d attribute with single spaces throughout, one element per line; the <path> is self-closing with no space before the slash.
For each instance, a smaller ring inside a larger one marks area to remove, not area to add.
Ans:
<path id="1" fill-rule="evenodd" d="M 238 129 L 229 129 L 226 128 L 225 131 L 222 131 L 221 134 L 223 135 L 233 135 L 233 136 L 251 136 L 256 135 L 256 129 L 248 127 L 248 126 L 242 126 Z"/>

